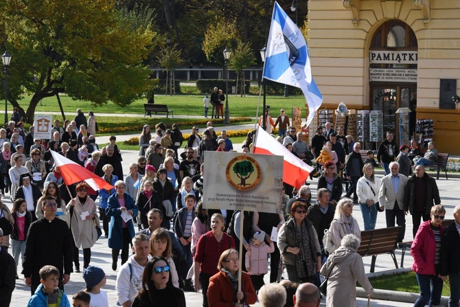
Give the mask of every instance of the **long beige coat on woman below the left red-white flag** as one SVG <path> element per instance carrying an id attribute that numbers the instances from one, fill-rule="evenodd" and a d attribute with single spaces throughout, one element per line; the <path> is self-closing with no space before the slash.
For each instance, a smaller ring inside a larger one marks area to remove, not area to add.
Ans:
<path id="1" fill-rule="evenodd" d="M 75 240 L 75 245 L 79 249 L 91 248 L 97 241 L 97 230 L 93 219 L 82 220 L 80 214 L 85 211 L 89 214 L 94 214 L 95 223 L 100 227 L 99 216 L 96 214 L 96 206 L 89 196 L 87 196 L 87 201 L 85 201 L 84 204 L 80 203 L 78 197 L 73 198 L 73 200 L 75 200 L 75 205 L 73 206 L 73 215 L 70 218 L 70 229 L 72 231 L 73 240 Z M 69 214 L 72 207 L 71 202 L 72 201 L 67 204 Z"/>

